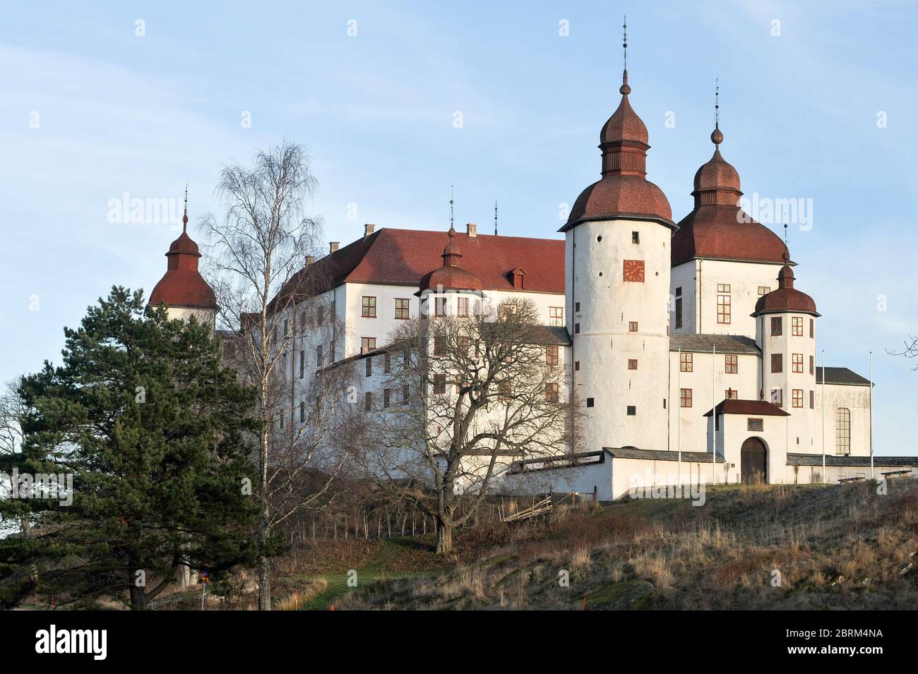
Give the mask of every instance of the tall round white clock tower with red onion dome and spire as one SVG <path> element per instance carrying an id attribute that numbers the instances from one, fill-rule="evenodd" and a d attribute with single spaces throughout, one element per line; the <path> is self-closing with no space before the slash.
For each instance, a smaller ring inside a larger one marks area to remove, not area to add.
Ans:
<path id="1" fill-rule="evenodd" d="M 626 27 L 622 27 L 626 28 Z M 627 54 L 627 37 L 622 49 Z M 646 179 L 647 127 L 630 101 L 599 132 L 599 182 L 577 197 L 565 232 L 567 330 L 584 408 L 577 450 L 665 449 L 670 239 L 666 195 Z"/>

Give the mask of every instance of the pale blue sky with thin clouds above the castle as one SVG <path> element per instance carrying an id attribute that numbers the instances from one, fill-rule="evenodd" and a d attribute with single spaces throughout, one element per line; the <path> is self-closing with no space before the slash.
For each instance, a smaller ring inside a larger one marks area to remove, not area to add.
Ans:
<path id="1" fill-rule="evenodd" d="M 501 234 L 561 238 L 599 178 L 627 12 L 647 177 L 674 219 L 711 157 L 716 79 L 746 196 L 805 209 L 789 248 L 826 365 L 868 376 L 872 350 L 876 452 L 918 453 L 918 359 L 890 355 L 918 335 L 915 3 L 283 5 L 5 7 L 0 380 L 59 362 L 62 327 L 112 285 L 149 293 L 185 183 L 194 237 L 220 167 L 283 138 L 312 158 L 328 241 L 445 229 L 451 185 L 457 223 L 490 231 L 497 200 Z M 125 222 L 125 199 L 172 215 Z"/>

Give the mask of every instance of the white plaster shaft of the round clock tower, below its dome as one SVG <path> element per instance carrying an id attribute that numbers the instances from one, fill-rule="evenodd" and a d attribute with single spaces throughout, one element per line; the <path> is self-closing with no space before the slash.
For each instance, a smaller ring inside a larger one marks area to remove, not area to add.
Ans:
<path id="1" fill-rule="evenodd" d="M 568 332 L 586 414 L 581 450 L 668 446 L 669 239 L 658 223 L 626 219 L 586 222 L 566 233 Z M 622 280 L 624 260 L 644 260 L 644 282 Z M 637 332 L 629 332 L 630 321 L 638 322 Z M 637 370 L 628 369 L 629 359 L 637 359 Z M 636 414 L 627 414 L 628 405 Z"/>

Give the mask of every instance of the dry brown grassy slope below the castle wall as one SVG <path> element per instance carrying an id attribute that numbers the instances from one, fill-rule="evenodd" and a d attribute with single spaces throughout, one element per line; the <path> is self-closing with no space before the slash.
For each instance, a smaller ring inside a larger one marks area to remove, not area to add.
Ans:
<path id="1" fill-rule="evenodd" d="M 310 608 L 918 608 L 918 481 L 633 501 L 464 532 L 449 559 L 421 536 L 360 543 L 308 574 L 328 582 Z"/>

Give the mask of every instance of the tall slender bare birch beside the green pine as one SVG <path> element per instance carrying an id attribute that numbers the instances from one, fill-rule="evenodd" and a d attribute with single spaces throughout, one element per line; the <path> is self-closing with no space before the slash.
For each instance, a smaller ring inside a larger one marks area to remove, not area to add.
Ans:
<path id="1" fill-rule="evenodd" d="M 330 264 L 310 264 L 321 238 L 321 219 L 307 215 L 316 187 L 305 150 L 285 140 L 256 152 L 251 166 L 225 166 L 217 188 L 225 215 L 205 218 L 224 354 L 256 392 L 261 430 L 254 482 L 265 549 L 276 525 L 328 503 L 344 460 L 335 450 L 347 414 L 331 410 L 350 370 L 317 370 L 334 358 L 341 321 L 322 296 Z M 270 571 L 261 556 L 263 611 L 271 609 Z"/>

